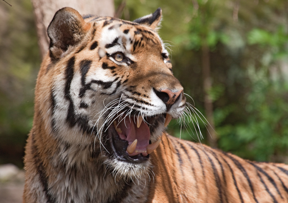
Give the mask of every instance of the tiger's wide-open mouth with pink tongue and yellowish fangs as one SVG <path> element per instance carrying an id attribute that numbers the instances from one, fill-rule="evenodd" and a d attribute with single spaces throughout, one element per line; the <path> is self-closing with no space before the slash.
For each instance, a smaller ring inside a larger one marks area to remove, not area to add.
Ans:
<path id="1" fill-rule="evenodd" d="M 141 115 L 117 117 L 108 127 L 109 144 L 113 154 L 120 161 L 142 163 L 149 159 L 149 154 L 160 144 L 160 140 L 151 143 L 151 133 L 163 125 L 166 127 L 172 117 L 160 114 L 153 117 Z M 110 154 L 111 155 L 111 154 Z"/>

